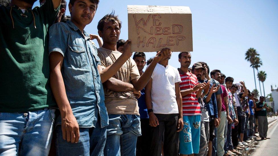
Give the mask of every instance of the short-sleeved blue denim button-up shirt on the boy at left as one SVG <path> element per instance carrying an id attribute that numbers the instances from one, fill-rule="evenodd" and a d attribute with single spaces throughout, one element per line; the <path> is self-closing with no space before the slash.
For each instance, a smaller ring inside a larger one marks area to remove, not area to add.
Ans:
<path id="1" fill-rule="evenodd" d="M 95 127 L 100 117 L 103 128 L 108 125 L 108 114 L 97 69 L 100 59 L 88 34 L 85 31 L 83 34 L 71 21 L 52 25 L 49 29 L 49 53 L 58 51 L 64 56 L 61 72 L 79 127 Z M 60 118 L 57 121 L 61 122 Z"/>

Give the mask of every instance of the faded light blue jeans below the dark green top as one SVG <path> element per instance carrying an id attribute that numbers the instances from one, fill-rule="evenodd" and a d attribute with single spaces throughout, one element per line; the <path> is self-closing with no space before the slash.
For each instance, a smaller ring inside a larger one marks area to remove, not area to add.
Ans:
<path id="1" fill-rule="evenodd" d="M 48 155 L 55 109 L 0 113 L 0 155 Z"/>

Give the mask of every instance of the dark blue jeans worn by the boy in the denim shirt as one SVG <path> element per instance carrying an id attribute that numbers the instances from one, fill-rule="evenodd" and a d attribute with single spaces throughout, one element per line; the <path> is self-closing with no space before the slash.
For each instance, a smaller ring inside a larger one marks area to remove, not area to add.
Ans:
<path id="1" fill-rule="evenodd" d="M 55 128 L 56 155 L 103 155 L 106 141 L 106 128 L 101 128 L 100 120 L 91 128 L 79 128 L 80 138 L 77 143 L 67 142 L 63 139 L 61 125 Z"/>

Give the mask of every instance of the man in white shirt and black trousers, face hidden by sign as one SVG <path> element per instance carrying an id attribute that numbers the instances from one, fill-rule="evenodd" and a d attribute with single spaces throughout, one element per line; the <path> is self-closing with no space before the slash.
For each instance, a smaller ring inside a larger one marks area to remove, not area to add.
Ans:
<path id="1" fill-rule="evenodd" d="M 171 53 L 156 65 L 152 78 L 145 88 L 149 122 L 152 126 L 150 155 L 161 155 L 162 142 L 165 155 L 178 155 L 179 132 L 183 129 L 179 90 L 181 78 L 178 70 L 168 65 L 170 58 Z"/>

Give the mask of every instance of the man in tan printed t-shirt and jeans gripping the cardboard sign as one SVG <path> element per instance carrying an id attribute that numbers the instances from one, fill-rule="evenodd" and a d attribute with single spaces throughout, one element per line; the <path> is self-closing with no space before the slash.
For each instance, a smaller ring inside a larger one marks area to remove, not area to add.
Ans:
<path id="1" fill-rule="evenodd" d="M 116 49 L 121 21 L 114 13 L 105 15 L 98 23 L 103 46 L 98 49 L 102 68 L 114 63 L 121 55 Z M 130 42 L 130 40 L 128 40 Z M 127 42 L 128 42 L 127 41 Z M 139 96 L 156 64 L 166 58 L 170 49 L 157 53 L 149 68 L 140 76 L 135 61 L 129 58 L 118 72 L 103 84 L 105 106 L 109 116 L 104 155 L 135 155 L 137 137 L 141 135 L 140 117 L 136 96 Z"/>

